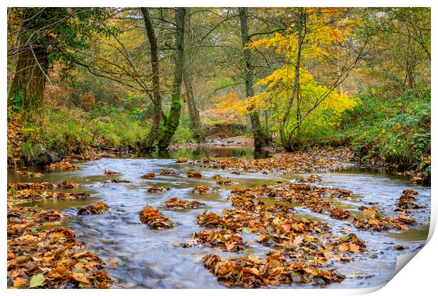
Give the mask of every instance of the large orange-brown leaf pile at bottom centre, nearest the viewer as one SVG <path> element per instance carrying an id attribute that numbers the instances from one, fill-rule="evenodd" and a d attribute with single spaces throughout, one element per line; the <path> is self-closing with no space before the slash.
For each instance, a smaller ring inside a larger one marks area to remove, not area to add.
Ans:
<path id="1" fill-rule="evenodd" d="M 244 288 L 290 283 L 324 285 L 339 282 L 344 278 L 333 270 L 322 270 L 302 262 L 285 259 L 280 251 L 271 252 L 264 258 L 249 255 L 221 259 L 218 255 L 209 254 L 203 257 L 203 263 L 223 284 Z"/>

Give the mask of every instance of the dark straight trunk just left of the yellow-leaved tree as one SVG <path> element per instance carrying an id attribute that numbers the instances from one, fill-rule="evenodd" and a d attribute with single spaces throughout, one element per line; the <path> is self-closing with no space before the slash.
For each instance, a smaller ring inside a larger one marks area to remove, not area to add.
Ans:
<path id="1" fill-rule="evenodd" d="M 251 63 L 251 51 L 247 49 L 248 39 L 248 17 L 247 8 L 239 7 L 239 19 L 240 19 L 240 30 L 242 32 L 242 45 L 243 45 L 243 56 L 245 61 L 244 76 L 245 76 L 245 88 L 247 91 L 247 97 L 254 96 L 254 90 L 252 88 L 253 82 L 253 66 Z M 254 106 L 248 107 L 249 118 L 251 119 L 251 130 L 254 136 L 254 148 L 261 148 L 267 146 L 268 139 L 261 126 L 259 112 Z"/>

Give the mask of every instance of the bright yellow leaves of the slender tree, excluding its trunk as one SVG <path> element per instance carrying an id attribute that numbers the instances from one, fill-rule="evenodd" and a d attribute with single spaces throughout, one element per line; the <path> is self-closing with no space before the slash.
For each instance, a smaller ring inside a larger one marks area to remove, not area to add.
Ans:
<path id="1" fill-rule="evenodd" d="M 291 8 L 297 9 L 297 8 Z M 336 126 L 341 122 L 344 111 L 353 109 L 360 103 L 355 98 L 332 90 L 332 82 L 325 67 L 331 61 L 341 58 L 338 46 L 353 35 L 353 28 L 360 20 L 345 18 L 341 8 L 304 8 L 306 11 L 305 34 L 300 54 L 300 91 L 293 98 L 293 106 L 285 126 L 286 132 L 294 130 L 298 122 L 301 128 L 313 130 L 324 126 Z M 251 49 L 265 47 L 283 56 L 283 66 L 256 82 L 263 91 L 244 101 L 245 106 L 273 110 L 273 119 L 283 118 L 288 101 L 292 97 L 295 85 L 295 65 L 299 50 L 299 32 L 292 23 L 288 30 L 276 33 L 272 37 L 258 39 L 248 44 Z M 312 65 L 312 66 L 308 66 Z M 319 70 L 318 69 L 321 69 Z M 333 67 L 331 67 L 333 68 Z M 336 68 L 336 67 L 335 67 Z M 314 74 L 312 74 L 314 73 Z M 318 80 L 315 79 L 315 74 Z M 326 78 L 327 77 L 327 78 Z M 322 79 L 321 79 L 322 78 Z"/>

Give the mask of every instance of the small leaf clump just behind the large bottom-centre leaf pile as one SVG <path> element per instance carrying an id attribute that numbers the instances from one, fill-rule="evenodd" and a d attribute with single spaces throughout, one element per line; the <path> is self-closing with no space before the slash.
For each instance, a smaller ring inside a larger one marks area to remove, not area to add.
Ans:
<path id="1" fill-rule="evenodd" d="M 214 247 L 217 251 L 225 252 L 240 252 L 247 248 L 247 244 L 242 240 L 242 237 L 227 229 L 199 231 L 199 233 L 194 233 L 193 238 L 186 244 L 182 244 L 182 247 L 196 245 Z"/>

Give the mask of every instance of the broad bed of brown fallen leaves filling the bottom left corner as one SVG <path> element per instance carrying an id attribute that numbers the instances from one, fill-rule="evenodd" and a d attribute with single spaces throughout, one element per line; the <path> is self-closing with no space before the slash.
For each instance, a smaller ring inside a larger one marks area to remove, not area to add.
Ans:
<path id="1" fill-rule="evenodd" d="M 56 226 L 58 211 L 8 206 L 8 286 L 14 288 L 109 288 L 102 261 L 75 233 Z"/>

